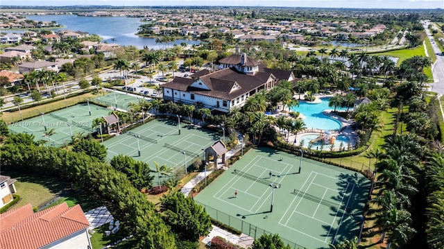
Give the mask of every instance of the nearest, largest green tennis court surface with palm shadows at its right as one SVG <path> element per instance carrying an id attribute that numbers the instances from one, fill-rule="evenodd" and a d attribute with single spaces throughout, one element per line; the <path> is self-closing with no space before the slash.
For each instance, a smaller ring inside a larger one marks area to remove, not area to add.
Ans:
<path id="1" fill-rule="evenodd" d="M 279 234 L 291 248 L 329 248 L 358 236 L 371 182 L 306 159 L 299 173 L 299 164 L 300 157 L 280 151 L 249 151 L 194 200 L 244 234 Z M 273 194 L 269 184 L 280 187 Z"/>

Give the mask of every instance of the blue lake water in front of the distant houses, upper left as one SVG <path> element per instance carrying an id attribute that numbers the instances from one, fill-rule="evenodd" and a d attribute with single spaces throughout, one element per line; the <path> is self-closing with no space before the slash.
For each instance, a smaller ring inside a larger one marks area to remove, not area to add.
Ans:
<path id="1" fill-rule="evenodd" d="M 123 46 L 136 46 L 143 49 L 148 46 L 149 49 L 161 49 L 163 44 L 155 44 L 154 38 L 143 38 L 135 35 L 137 28 L 142 22 L 139 18 L 131 17 L 78 17 L 77 15 L 28 15 L 27 19 L 40 21 L 56 21 L 58 24 L 64 25 L 65 28 L 53 29 L 53 31 L 70 30 L 84 31 L 90 34 L 96 34 L 103 38 L 102 42 L 115 43 Z M 22 31 L 24 32 L 24 31 Z M 20 32 L 20 33 L 22 33 Z M 17 32 L 18 33 L 18 32 Z M 195 40 L 176 40 L 172 44 L 180 44 L 185 42 L 189 45 L 200 44 Z"/>

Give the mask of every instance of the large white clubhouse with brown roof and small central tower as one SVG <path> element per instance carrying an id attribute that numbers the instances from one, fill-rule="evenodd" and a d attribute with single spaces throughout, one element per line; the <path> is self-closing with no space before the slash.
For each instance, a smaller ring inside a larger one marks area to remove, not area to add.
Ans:
<path id="1" fill-rule="evenodd" d="M 230 112 L 233 106 L 244 106 L 247 98 L 259 90 L 273 88 L 279 80 L 295 80 L 291 71 L 268 69 L 245 53 L 230 55 L 219 62 L 219 71 L 191 79 L 176 77 L 160 85 L 164 101 L 200 102 L 210 110 Z"/>

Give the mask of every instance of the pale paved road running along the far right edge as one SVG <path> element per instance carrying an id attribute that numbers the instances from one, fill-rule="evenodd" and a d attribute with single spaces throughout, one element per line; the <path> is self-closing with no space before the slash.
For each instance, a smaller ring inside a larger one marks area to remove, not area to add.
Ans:
<path id="1" fill-rule="evenodd" d="M 437 92 L 438 94 L 444 94 L 444 56 L 441 55 L 441 50 L 436 44 L 432 33 L 429 31 L 429 22 L 423 22 L 422 26 L 425 28 L 425 33 L 427 33 L 427 37 L 429 37 L 430 42 L 432 43 L 433 51 L 428 51 L 428 53 L 436 54 L 436 62 L 432 65 L 432 74 L 434 78 L 434 83 L 429 84 L 432 92 Z"/>

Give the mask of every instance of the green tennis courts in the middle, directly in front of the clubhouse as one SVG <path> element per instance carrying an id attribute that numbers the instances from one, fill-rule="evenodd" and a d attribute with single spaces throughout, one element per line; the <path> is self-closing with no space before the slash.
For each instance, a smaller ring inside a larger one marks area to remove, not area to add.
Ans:
<path id="1" fill-rule="evenodd" d="M 222 136 L 186 123 L 180 123 L 180 126 L 179 135 L 177 119 L 155 119 L 102 144 L 108 149 L 109 159 L 116 155 L 128 155 L 135 160 L 148 163 L 153 170 L 155 170 L 154 162 L 160 166 L 167 164 L 185 170 L 185 160 L 187 168 L 197 156 L 204 160 L 205 149 Z M 139 136 L 139 145 L 137 145 L 137 136 Z M 157 173 L 153 175 L 156 183 Z"/>

